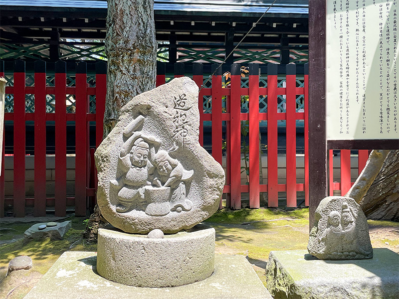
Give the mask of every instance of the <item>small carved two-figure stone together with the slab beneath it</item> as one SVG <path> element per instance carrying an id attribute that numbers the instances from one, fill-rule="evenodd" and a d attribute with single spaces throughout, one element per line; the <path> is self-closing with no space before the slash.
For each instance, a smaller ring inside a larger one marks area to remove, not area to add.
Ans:
<path id="1" fill-rule="evenodd" d="M 270 252 L 267 290 L 274 299 L 396 299 L 398 264 L 397 253 L 373 250 L 359 204 L 330 196 L 316 209 L 308 251 Z"/>

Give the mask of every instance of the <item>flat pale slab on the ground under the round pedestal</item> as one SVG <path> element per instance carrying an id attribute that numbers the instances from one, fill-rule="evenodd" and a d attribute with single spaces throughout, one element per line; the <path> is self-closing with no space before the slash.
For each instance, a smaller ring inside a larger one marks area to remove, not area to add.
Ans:
<path id="1" fill-rule="evenodd" d="M 140 288 L 106 280 L 94 252 L 65 252 L 24 299 L 272 299 L 244 256 L 215 255 L 213 274 L 194 284 Z"/>

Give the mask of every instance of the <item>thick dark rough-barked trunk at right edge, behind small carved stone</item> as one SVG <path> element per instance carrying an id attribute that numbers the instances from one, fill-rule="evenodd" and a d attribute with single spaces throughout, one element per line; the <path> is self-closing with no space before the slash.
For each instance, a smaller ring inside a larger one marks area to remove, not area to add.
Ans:
<path id="1" fill-rule="evenodd" d="M 367 218 L 399 222 L 399 150 L 391 150 L 360 206 Z"/>

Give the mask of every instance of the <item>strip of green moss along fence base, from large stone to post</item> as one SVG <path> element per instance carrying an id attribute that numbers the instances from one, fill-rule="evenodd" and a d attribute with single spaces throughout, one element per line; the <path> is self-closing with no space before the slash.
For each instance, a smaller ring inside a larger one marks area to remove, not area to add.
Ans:
<path id="1" fill-rule="evenodd" d="M 241 209 L 233 211 L 222 209 L 214 213 L 205 222 L 241 224 L 243 222 L 295 218 L 309 221 L 309 209 L 284 211 L 281 209 Z"/>

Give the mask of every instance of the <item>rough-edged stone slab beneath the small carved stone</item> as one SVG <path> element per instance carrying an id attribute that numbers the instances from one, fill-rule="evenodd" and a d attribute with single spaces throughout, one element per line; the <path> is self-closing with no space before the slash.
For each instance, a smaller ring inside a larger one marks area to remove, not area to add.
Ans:
<path id="1" fill-rule="evenodd" d="M 306 250 L 272 251 L 266 267 L 274 299 L 397 299 L 399 255 L 375 248 L 368 260 L 318 260 Z"/>

